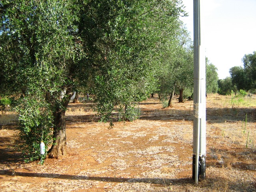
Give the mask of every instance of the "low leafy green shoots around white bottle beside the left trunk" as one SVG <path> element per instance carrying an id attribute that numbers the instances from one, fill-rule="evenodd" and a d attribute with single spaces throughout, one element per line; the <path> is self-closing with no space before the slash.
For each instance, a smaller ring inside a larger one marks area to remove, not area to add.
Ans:
<path id="1" fill-rule="evenodd" d="M 40 98 L 24 97 L 16 110 L 19 115 L 19 137 L 23 141 L 18 149 L 26 162 L 40 159 L 41 162 L 47 154 L 47 146 L 52 144 L 52 113 L 50 105 Z M 40 154 L 40 143 L 44 142 L 45 154 Z"/>

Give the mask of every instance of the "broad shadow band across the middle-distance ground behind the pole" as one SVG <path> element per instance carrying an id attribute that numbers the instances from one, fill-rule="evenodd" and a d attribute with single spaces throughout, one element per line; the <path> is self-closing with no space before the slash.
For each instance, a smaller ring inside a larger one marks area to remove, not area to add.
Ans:
<path id="1" fill-rule="evenodd" d="M 148 104 L 148 103 L 145 103 Z M 141 120 L 186 120 L 192 121 L 194 118 L 193 108 L 184 109 L 141 109 Z M 96 114 L 66 116 L 67 123 L 85 123 L 98 122 L 101 116 Z M 110 119 L 118 121 L 118 113 L 113 112 Z M 208 123 L 238 122 L 238 121 L 256 122 L 255 108 L 206 108 L 206 121 Z"/>

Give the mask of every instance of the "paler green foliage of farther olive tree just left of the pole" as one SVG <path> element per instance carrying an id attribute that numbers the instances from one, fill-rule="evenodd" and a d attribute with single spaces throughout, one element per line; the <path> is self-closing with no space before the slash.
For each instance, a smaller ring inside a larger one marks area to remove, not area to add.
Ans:
<path id="1" fill-rule="evenodd" d="M 192 42 L 185 28 L 177 30 L 176 41 L 166 43 L 156 71 L 157 92 L 165 100 L 174 90 L 190 90 L 193 87 Z M 171 100 L 169 100 L 171 105 Z M 168 105 L 168 104 L 167 104 Z"/>

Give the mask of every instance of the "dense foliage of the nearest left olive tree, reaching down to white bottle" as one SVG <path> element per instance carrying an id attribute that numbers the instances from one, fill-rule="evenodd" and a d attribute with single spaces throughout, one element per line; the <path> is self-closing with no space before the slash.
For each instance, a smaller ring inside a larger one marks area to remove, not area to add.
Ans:
<path id="1" fill-rule="evenodd" d="M 58 137 L 50 127 L 55 132 L 62 129 L 53 116 L 65 111 L 76 87 L 76 68 L 85 57 L 76 36 L 77 7 L 72 0 L 6 1 L 1 6 L 1 92 L 24 96 L 16 106 L 24 140 L 21 150 L 26 160 L 35 160 L 40 133 L 47 145 Z"/>

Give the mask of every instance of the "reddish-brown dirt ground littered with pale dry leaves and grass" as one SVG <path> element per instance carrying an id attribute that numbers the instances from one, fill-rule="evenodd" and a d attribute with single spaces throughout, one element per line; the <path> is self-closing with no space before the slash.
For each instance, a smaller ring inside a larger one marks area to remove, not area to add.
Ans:
<path id="1" fill-rule="evenodd" d="M 98 122 L 91 102 L 66 112 L 69 155 L 24 163 L 15 124 L 0 129 L 1 192 L 256 191 L 256 97 L 207 97 L 206 180 L 192 180 L 193 101 L 140 102 L 133 122 Z M 5 114 L 8 116 L 8 114 Z M 115 114 L 114 114 L 115 115 Z M 4 115 L 2 115 L 3 118 Z"/>

